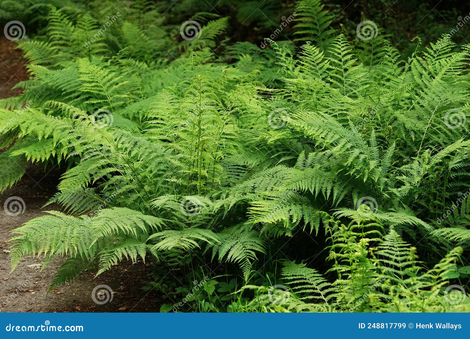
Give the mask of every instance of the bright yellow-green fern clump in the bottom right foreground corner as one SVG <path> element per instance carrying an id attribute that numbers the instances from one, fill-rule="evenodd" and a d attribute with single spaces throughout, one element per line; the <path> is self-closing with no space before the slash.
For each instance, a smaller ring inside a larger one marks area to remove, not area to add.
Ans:
<path id="1" fill-rule="evenodd" d="M 239 305 L 240 311 L 276 312 L 468 312 L 470 303 L 462 294 L 460 301 L 449 301 L 441 288 L 449 285 L 448 273 L 462 253 L 457 248 L 434 268 L 419 273 L 423 267 L 416 261 L 415 248 L 402 241 L 395 230 L 380 238 L 368 238 L 379 226 L 358 217 L 349 226 L 330 230 L 329 258 L 332 271 L 339 273 L 330 284 L 317 271 L 304 264 L 285 262 L 281 276 L 286 286 L 278 289 L 244 286 L 255 290 L 256 297 Z M 368 248 L 378 241 L 377 248 Z M 382 259 L 381 259 L 382 258 Z M 275 294 L 274 294 L 275 293 Z M 321 302 L 314 301 L 320 299 Z"/>

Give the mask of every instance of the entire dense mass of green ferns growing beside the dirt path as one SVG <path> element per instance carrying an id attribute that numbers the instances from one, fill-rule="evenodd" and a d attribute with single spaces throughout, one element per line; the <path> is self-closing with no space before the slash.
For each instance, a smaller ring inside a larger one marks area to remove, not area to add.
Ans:
<path id="1" fill-rule="evenodd" d="M 226 17 L 193 15 L 200 36 L 176 42 L 135 1 L 90 44 L 99 20 L 51 7 L 2 101 L 0 187 L 59 165 L 63 210 L 12 232 L 13 269 L 66 256 L 55 286 L 138 257 L 213 262 L 245 285 L 232 310 L 468 311 L 446 287 L 469 283 L 470 46 L 416 38 L 405 59 L 337 35 L 320 1 L 295 10 L 297 45 L 219 52 Z M 308 260 L 324 247 L 328 267 Z M 280 300 L 256 280 L 278 263 Z"/>

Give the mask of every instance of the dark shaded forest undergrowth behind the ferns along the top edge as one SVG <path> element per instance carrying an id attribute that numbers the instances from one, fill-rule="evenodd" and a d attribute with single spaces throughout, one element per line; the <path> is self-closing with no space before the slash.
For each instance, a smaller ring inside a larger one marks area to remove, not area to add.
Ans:
<path id="1" fill-rule="evenodd" d="M 178 25 L 197 12 L 211 12 L 230 16 L 227 36 L 230 41 L 258 43 L 269 36 L 273 28 L 279 27 L 282 16 L 290 15 L 298 1 L 294 0 L 103 0 L 101 8 L 118 6 L 151 8 L 157 7 L 165 24 Z M 132 6 L 130 6 L 132 3 Z M 470 21 L 470 1 L 461 0 L 323 0 L 325 8 L 339 13 L 332 26 L 344 33 L 353 34 L 362 20 L 362 13 L 391 35 L 392 42 L 402 52 L 407 52 L 407 42 L 420 36 L 425 43 L 436 41 L 443 33 L 452 31 L 459 22 Z M 62 8 L 68 15 L 78 10 L 91 10 L 93 1 L 86 0 L 0 0 L 0 24 L 19 20 L 27 26 L 29 35 L 41 34 L 45 27 L 48 5 Z M 112 6 L 111 6 L 112 5 Z M 465 18 L 465 16 L 467 18 Z M 290 38 L 290 27 L 284 37 Z M 466 24 L 453 34 L 459 44 L 466 44 L 470 37 L 465 33 Z"/>

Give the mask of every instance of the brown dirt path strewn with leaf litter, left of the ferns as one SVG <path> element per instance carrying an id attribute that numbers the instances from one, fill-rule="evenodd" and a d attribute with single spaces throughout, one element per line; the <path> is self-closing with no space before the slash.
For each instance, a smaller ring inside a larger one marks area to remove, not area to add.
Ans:
<path id="1" fill-rule="evenodd" d="M 25 62 L 15 46 L 14 42 L 0 38 L 0 98 L 20 94 L 19 90 L 12 92 L 10 89 L 20 80 L 27 79 Z M 18 184 L 0 194 L 0 312 L 158 312 L 163 303 L 160 295 L 141 289 L 151 270 L 149 264 L 142 262 L 123 262 L 98 278 L 87 273 L 71 285 L 55 287 L 49 294 L 47 289 L 63 263 L 62 258 L 55 258 L 40 271 L 43 260 L 24 257 L 10 273 L 7 241 L 11 235 L 8 233 L 32 218 L 46 214 L 42 211 L 59 209 L 54 205 L 41 209 L 55 194 L 59 176 L 57 168 L 45 172 L 43 168 L 29 165 Z M 9 198 L 12 198 L 10 204 L 20 203 L 21 212 L 17 215 L 8 215 L 4 210 Z M 96 289 L 99 285 L 106 286 Z M 97 302 L 92 298 L 94 290 Z"/>

